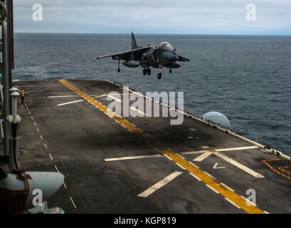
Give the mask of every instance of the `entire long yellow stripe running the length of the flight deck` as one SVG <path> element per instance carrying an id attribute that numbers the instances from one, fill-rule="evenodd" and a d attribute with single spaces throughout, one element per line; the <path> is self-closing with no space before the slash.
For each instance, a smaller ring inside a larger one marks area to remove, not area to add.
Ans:
<path id="1" fill-rule="evenodd" d="M 68 86 L 68 88 L 70 88 L 71 90 L 74 90 L 75 93 L 77 93 L 78 95 L 83 97 L 85 100 L 88 100 L 90 103 L 92 103 L 97 108 L 102 110 L 102 112 L 106 113 L 107 115 L 112 116 L 112 118 L 114 118 L 115 121 L 124 125 L 125 128 L 128 128 L 128 129 L 132 130 L 134 133 L 138 133 L 139 135 L 142 135 L 144 137 L 151 138 L 150 135 L 148 135 L 147 133 L 144 133 L 139 128 L 134 127 L 134 125 L 129 123 L 127 120 L 124 120 L 121 116 L 117 116 L 116 113 L 112 112 L 112 110 L 107 109 L 107 107 L 105 107 L 105 105 L 102 105 L 101 103 L 99 103 L 96 100 L 94 100 L 93 98 L 91 98 L 89 95 L 78 90 L 78 88 L 75 88 L 75 86 L 73 86 L 72 84 L 68 83 L 65 80 L 60 80 L 60 82 L 65 84 L 65 86 Z M 201 181 L 203 181 L 206 185 L 208 185 L 209 187 L 212 187 L 213 190 L 216 190 L 221 195 L 226 197 L 226 199 L 228 201 L 230 201 L 231 203 L 240 207 L 241 209 L 245 210 L 245 212 L 248 212 L 250 214 L 265 214 L 265 212 L 263 212 L 258 207 L 255 207 L 253 205 L 247 206 L 245 199 L 243 199 L 243 197 L 240 197 L 240 195 L 237 195 L 235 192 L 230 190 L 225 185 L 221 185 L 220 183 L 216 182 L 216 180 L 214 180 L 211 176 L 207 175 L 205 172 L 200 170 L 198 167 L 191 164 L 191 162 L 185 160 L 183 157 L 178 155 L 176 152 L 172 152 L 169 149 L 164 149 L 162 147 L 159 147 L 158 143 L 154 143 L 154 146 L 157 148 L 157 150 L 163 152 L 163 154 L 166 157 L 168 157 L 169 159 L 176 162 L 176 164 L 179 164 L 182 167 L 184 167 L 186 170 L 188 170 L 190 173 L 192 173 L 195 177 L 198 177 Z M 240 150 L 242 150 L 241 148 L 242 147 L 240 147 Z M 250 147 L 248 147 L 248 148 L 250 149 Z M 231 148 L 231 149 L 233 149 L 233 148 Z M 228 149 L 228 150 L 230 150 L 230 149 Z M 206 150 L 206 151 L 212 152 L 211 150 Z M 206 151 L 204 151 L 204 152 L 206 152 Z M 216 151 L 220 151 L 220 150 L 216 150 Z"/>

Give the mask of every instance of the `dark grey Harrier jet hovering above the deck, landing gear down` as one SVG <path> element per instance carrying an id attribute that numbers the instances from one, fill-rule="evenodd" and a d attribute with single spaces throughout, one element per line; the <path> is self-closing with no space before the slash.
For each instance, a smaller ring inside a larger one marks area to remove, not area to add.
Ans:
<path id="1" fill-rule="evenodd" d="M 143 69 L 144 76 L 151 74 L 152 68 L 159 68 L 157 72 L 157 78 L 162 78 L 162 68 L 169 68 L 171 73 L 172 68 L 179 68 L 181 65 L 177 61 L 186 62 L 188 58 L 177 55 L 176 49 L 171 46 L 169 42 L 162 42 L 159 46 L 137 46 L 134 34 L 132 33 L 132 49 L 129 51 L 122 51 L 118 53 L 112 53 L 107 56 L 100 56 L 100 58 L 112 57 L 112 59 L 118 60 L 117 72 L 120 72 L 120 60 L 124 60 L 123 65 L 131 68 L 141 66 Z"/>

